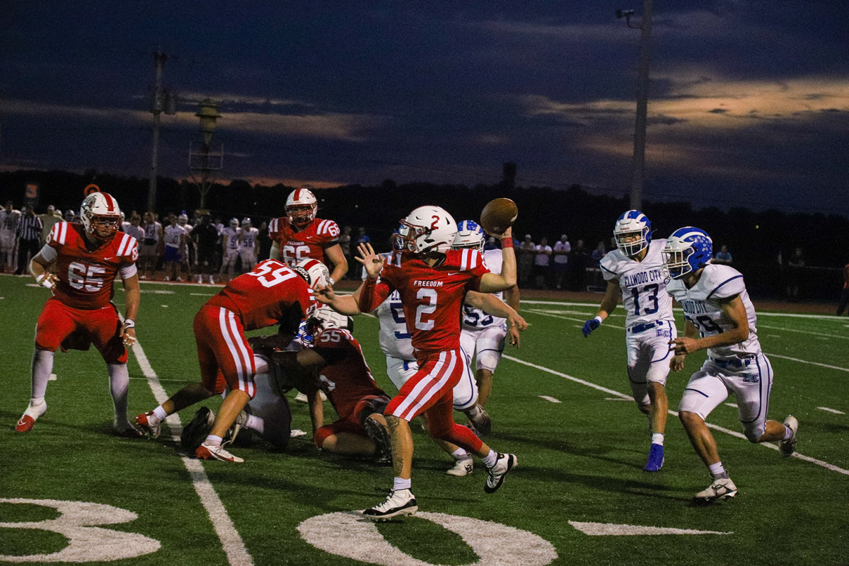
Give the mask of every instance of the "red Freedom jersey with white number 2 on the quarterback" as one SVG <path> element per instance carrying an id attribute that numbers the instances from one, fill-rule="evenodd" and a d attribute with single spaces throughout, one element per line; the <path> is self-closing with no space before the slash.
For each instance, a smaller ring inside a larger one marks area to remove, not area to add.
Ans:
<path id="1" fill-rule="evenodd" d="M 451 249 L 445 261 L 434 267 L 393 252 L 380 272 L 371 305 L 380 305 L 397 289 L 413 348 L 423 352 L 457 350 L 463 299 L 467 292 L 481 288 L 484 273 L 489 269 L 477 249 Z"/>

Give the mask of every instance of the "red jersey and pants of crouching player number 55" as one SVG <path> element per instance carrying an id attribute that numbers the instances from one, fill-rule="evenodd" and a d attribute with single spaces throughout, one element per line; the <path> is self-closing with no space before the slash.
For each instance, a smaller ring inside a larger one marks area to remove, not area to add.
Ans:
<path id="1" fill-rule="evenodd" d="M 329 363 L 318 379 L 321 389 L 333 405 L 339 419 L 318 429 L 315 443 L 321 447 L 331 434 L 347 432 L 367 436 L 360 415 L 374 401 L 389 402 L 389 397 L 374 381 L 357 339 L 342 328 L 328 328 L 315 338 L 314 348 Z"/>

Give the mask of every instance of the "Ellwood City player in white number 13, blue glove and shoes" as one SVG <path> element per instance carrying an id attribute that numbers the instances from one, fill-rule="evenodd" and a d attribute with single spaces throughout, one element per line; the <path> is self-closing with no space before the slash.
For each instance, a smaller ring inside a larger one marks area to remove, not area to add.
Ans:
<path id="1" fill-rule="evenodd" d="M 672 317 L 672 298 L 666 293 L 667 275 L 661 251 L 666 240 L 651 239 L 651 221 L 639 210 L 628 210 L 613 227 L 616 248 L 604 255 L 599 267 L 607 293 L 595 318 L 584 322 L 589 336 L 616 308 L 621 295 L 625 307 L 625 345 L 628 381 L 639 410 L 649 415 L 651 446 L 646 472 L 663 467 L 666 430 L 666 376 L 669 340 L 678 337 Z"/>

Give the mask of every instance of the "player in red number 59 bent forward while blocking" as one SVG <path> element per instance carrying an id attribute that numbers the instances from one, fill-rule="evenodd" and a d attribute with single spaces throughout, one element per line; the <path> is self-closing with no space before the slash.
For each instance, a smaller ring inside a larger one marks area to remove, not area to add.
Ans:
<path id="1" fill-rule="evenodd" d="M 155 438 L 168 415 L 220 395 L 227 387 L 230 392 L 195 456 L 244 462 L 224 449 L 222 438 L 256 395 L 254 375 L 267 372 L 267 362 L 254 357 L 245 332 L 280 324 L 294 333 L 301 320 L 315 310 L 312 287 L 326 285 L 327 277 L 327 267 L 318 261 L 307 260 L 290 267 L 266 260 L 230 281 L 194 317 L 200 383 L 186 385 L 153 411 L 138 415 L 138 426 Z"/>

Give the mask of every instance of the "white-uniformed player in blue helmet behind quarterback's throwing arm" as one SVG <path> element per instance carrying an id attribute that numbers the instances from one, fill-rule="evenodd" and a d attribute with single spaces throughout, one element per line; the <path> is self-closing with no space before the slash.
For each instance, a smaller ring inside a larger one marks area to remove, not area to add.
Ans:
<path id="1" fill-rule="evenodd" d="M 501 273 L 501 249 L 484 251 L 483 244 L 486 234 L 475 221 L 465 220 L 457 225 L 457 236 L 454 237 L 453 249 L 475 248 L 483 255 L 486 266 L 493 273 Z M 519 311 L 519 289 L 514 287 L 502 293 L 495 294 L 504 300 L 514 311 Z M 460 346 L 471 358 L 475 356 L 475 382 L 478 386 L 478 405 L 486 406 L 486 401 L 492 392 L 492 374 L 501 361 L 504 351 L 504 337 L 507 336 L 507 321 L 493 317 L 472 305 L 463 305 L 463 321 L 460 325 Z M 475 425 L 475 428 L 476 425 Z M 489 434 L 489 427 L 481 430 L 481 434 Z"/>

